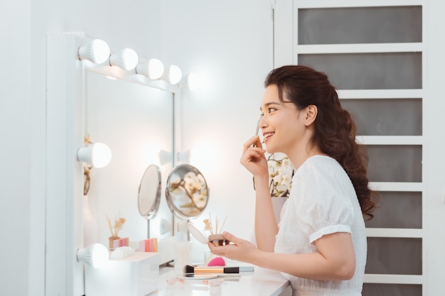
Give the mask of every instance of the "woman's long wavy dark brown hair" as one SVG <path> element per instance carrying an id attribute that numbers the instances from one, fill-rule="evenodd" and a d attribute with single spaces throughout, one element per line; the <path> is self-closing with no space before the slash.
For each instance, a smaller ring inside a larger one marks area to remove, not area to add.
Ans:
<path id="1" fill-rule="evenodd" d="M 286 65 L 272 70 L 264 86 L 277 86 L 284 97 L 302 110 L 315 105 L 318 114 L 311 142 L 340 163 L 353 183 L 362 213 L 372 219 L 378 193 L 368 186 L 368 152 L 355 141 L 356 127 L 349 112 L 342 108 L 335 87 L 323 72 L 303 65 Z"/>

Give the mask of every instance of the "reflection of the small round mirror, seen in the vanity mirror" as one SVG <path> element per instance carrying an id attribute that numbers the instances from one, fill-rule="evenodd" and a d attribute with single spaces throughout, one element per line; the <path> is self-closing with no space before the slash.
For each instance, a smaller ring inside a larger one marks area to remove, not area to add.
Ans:
<path id="1" fill-rule="evenodd" d="M 142 175 L 139 184 L 138 207 L 139 213 L 145 219 L 156 216 L 161 202 L 161 170 L 157 165 L 149 165 Z"/>

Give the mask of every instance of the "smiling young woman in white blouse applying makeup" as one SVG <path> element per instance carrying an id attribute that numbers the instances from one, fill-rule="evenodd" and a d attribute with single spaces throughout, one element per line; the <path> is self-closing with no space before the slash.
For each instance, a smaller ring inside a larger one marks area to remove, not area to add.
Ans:
<path id="1" fill-rule="evenodd" d="M 254 176 L 257 246 L 225 232 L 232 244 L 218 256 L 279 270 L 293 295 L 361 295 L 366 263 L 364 217 L 375 208 L 368 187 L 368 155 L 355 142 L 355 124 L 328 77 L 289 65 L 269 73 L 259 136 L 240 162 Z M 279 225 L 269 194 L 264 153 L 284 153 L 296 168 Z"/>

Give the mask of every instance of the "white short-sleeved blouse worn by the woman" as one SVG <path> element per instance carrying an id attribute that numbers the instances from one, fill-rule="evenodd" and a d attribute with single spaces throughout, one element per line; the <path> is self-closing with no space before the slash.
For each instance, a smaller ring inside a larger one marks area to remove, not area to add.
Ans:
<path id="1" fill-rule="evenodd" d="M 366 263 L 366 232 L 352 182 L 341 165 L 328 156 L 306 160 L 292 179 L 284 203 L 275 253 L 313 253 L 313 243 L 335 232 L 352 235 L 355 274 L 350 280 L 307 280 L 283 273 L 291 281 L 294 296 L 359 296 Z"/>

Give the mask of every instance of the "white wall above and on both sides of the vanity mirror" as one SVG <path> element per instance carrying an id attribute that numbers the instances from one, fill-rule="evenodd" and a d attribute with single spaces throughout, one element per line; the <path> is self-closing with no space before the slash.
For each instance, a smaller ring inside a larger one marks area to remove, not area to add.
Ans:
<path id="1" fill-rule="evenodd" d="M 2 1 L 0 222 L 11 243 L 0 247 L 0 295 L 45 294 L 46 34 L 84 31 L 202 75 L 207 88 L 183 96 L 183 150 L 208 153 L 192 163 L 210 186 L 206 214 L 249 236 L 252 180 L 239 158 L 272 68 L 271 2 Z"/>

